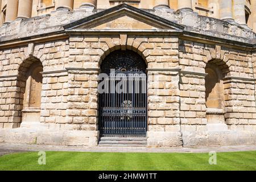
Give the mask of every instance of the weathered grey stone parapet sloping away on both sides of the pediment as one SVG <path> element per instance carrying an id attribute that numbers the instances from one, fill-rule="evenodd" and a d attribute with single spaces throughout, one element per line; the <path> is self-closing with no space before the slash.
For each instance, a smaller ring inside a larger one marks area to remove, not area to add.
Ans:
<path id="1" fill-rule="evenodd" d="M 15 20 L 10 24 L 0 28 L 0 43 L 7 40 L 15 40 L 28 36 L 36 36 L 49 32 L 59 32 L 67 23 L 88 17 L 97 11 L 81 11 L 79 9 L 72 12 L 53 12 L 48 15 L 42 15 L 30 19 Z M 179 14 L 172 11 L 154 11 L 146 10 L 149 13 L 158 15 L 167 20 L 178 22 L 186 26 L 189 32 L 197 32 L 202 35 L 210 35 L 216 38 L 224 38 L 238 42 L 250 43 L 255 38 L 253 31 L 242 27 L 235 22 L 224 22 L 220 19 L 214 19 L 207 16 L 200 16 L 196 13 L 180 12 Z M 16 18 L 16 17 L 15 17 Z"/>

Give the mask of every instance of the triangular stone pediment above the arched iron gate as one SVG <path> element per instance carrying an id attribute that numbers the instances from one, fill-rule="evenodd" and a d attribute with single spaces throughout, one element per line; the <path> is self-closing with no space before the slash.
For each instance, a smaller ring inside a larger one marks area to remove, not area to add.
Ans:
<path id="1" fill-rule="evenodd" d="M 183 30 L 184 27 L 136 7 L 122 4 L 64 26 L 65 30 Z"/>

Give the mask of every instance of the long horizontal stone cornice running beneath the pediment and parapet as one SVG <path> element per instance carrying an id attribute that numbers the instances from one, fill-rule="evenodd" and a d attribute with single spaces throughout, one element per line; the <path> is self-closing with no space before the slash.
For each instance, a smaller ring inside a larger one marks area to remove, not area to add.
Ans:
<path id="1" fill-rule="evenodd" d="M 201 35 L 195 32 L 188 32 L 182 30 L 66 30 L 30 36 L 27 38 L 20 38 L 5 42 L 0 42 L 1 48 L 11 48 L 26 46 L 28 43 L 43 43 L 52 40 L 68 39 L 69 35 L 116 35 L 117 32 L 125 33 L 127 35 L 176 35 L 183 40 L 191 40 L 193 42 L 207 43 L 207 44 L 221 44 L 224 47 L 232 47 L 246 51 L 256 51 L 256 44 L 237 42 L 235 40 L 216 38 L 215 36 Z"/>

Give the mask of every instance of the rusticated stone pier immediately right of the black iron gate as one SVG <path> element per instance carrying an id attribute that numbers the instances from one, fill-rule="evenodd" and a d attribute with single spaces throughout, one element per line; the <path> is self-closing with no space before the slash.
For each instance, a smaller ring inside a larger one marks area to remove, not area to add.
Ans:
<path id="1" fill-rule="evenodd" d="M 181 146 L 179 68 L 147 69 L 148 146 Z"/>

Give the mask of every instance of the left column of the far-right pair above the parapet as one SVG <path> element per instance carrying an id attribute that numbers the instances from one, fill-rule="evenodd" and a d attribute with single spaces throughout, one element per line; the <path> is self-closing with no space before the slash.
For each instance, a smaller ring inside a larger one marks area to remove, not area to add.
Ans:
<path id="1" fill-rule="evenodd" d="M 232 15 L 232 0 L 220 0 L 220 19 L 234 20 Z"/>

